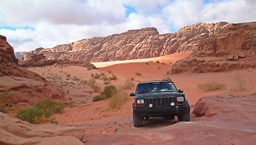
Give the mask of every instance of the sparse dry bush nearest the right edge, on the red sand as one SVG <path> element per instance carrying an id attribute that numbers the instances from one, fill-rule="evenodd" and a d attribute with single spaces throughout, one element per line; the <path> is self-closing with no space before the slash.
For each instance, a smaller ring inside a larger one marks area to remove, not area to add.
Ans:
<path id="1" fill-rule="evenodd" d="M 244 91 L 247 87 L 246 77 L 242 74 L 236 74 L 233 77 L 233 90 L 234 91 Z"/>

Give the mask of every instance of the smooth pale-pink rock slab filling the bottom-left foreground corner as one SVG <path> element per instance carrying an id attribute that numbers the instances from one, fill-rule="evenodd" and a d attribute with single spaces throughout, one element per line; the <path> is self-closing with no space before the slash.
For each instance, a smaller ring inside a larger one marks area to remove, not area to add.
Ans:
<path id="1" fill-rule="evenodd" d="M 33 125 L 0 112 L 0 144 L 83 145 L 82 129 L 52 124 Z"/>

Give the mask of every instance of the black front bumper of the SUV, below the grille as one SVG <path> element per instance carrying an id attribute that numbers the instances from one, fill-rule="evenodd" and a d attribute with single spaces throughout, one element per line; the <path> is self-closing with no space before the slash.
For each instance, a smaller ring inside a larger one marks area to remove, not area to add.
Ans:
<path id="1" fill-rule="evenodd" d="M 139 117 L 163 117 L 166 115 L 177 115 L 179 113 L 190 112 L 189 104 L 169 107 L 134 107 L 133 112 Z"/>

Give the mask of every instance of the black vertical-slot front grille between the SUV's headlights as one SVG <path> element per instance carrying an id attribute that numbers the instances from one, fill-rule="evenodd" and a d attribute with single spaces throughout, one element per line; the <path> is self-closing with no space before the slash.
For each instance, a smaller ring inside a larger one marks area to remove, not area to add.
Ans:
<path id="1" fill-rule="evenodd" d="M 152 104 L 153 107 L 158 106 L 171 106 L 171 102 L 177 102 L 176 97 L 157 97 L 157 98 L 146 98 L 146 106 Z"/>

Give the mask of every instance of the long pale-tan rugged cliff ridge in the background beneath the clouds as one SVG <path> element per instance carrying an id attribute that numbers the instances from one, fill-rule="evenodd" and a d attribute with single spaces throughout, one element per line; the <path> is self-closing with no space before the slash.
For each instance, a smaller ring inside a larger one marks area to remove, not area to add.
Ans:
<path id="1" fill-rule="evenodd" d="M 22 63 L 33 55 L 44 54 L 46 60 L 105 62 L 135 58 L 158 57 L 173 52 L 195 50 L 199 42 L 222 31 L 229 23 L 197 23 L 176 33 L 159 34 L 156 28 L 129 30 L 108 37 L 93 37 L 53 48 L 26 52 Z"/>

